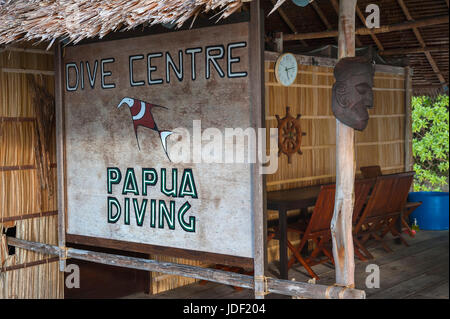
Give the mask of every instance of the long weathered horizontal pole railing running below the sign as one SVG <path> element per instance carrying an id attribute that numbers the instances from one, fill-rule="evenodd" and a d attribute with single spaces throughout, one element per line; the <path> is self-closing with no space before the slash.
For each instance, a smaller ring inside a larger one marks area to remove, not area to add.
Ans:
<path id="1" fill-rule="evenodd" d="M 14 237 L 7 237 L 7 244 L 17 248 L 27 249 L 41 254 L 60 255 L 62 249 L 43 243 L 31 242 Z M 190 266 L 170 262 L 156 261 L 144 258 L 128 257 L 94 252 L 84 249 L 67 248 L 67 258 L 74 258 L 104 265 L 125 267 L 144 271 L 154 271 L 175 276 L 196 278 L 219 284 L 253 289 L 252 276 L 242 275 L 223 270 Z M 267 292 L 298 296 L 309 299 L 365 299 L 364 290 L 346 289 L 337 286 L 315 285 L 304 282 L 281 280 L 265 277 Z"/>

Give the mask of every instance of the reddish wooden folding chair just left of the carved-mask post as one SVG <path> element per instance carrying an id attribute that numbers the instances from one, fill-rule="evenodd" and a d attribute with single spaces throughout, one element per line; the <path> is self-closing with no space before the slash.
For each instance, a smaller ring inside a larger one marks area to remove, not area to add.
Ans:
<path id="1" fill-rule="evenodd" d="M 331 241 L 330 224 L 333 217 L 335 189 L 336 186 L 334 184 L 322 186 L 309 221 L 307 223 L 298 222 L 288 225 L 288 232 L 295 232 L 301 236 L 298 247 L 294 247 L 289 241 L 287 243 L 293 253 L 288 262 L 288 269 L 297 260 L 305 267 L 311 277 L 318 280 L 319 276 L 311 267 L 327 261 L 331 261 L 334 264 L 333 254 L 330 252 L 327 244 Z M 312 240 L 316 247 L 309 253 L 309 256 L 303 257 L 300 252 L 307 245 L 308 240 Z M 318 255 L 321 252 L 325 258 L 319 259 Z"/>

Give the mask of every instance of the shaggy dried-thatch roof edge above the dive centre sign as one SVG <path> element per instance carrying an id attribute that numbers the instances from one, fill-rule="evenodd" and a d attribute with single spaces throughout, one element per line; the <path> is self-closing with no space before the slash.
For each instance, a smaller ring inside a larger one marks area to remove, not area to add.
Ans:
<path id="1" fill-rule="evenodd" d="M 248 0 L 247 0 L 248 1 Z M 201 12 L 225 18 L 245 0 L 0 0 L 0 44 L 18 40 L 78 42 L 148 23 L 181 26 Z"/>

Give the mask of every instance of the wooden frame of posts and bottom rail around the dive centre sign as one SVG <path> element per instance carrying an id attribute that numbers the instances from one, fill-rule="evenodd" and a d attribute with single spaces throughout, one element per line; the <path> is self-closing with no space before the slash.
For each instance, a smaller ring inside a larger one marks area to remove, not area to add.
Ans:
<path id="1" fill-rule="evenodd" d="M 258 5 L 259 8 L 259 5 Z M 253 13 L 252 13 L 253 17 Z M 260 128 L 264 125 L 264 74 L 263 74 L 263 54 L 264 42 L 262 41 L 263 32 L 261 28 L 255 28 L 254 24 L 260 24 L 261 15 L 258 14 L 258 19 L 250 19 L 248 23 L 248 46 L 249 46 L 249 93 L 250 93 L 250 120 L 252 127 Z M 193 30 L 195 32 L 195 29 Z M 256 39 L 255 39 L 256 38 Z M 102 43 L 99 41 L 98 43 Z M 252 203 L 252 217 L 254 242 L 253 256 L 254 258 L 240 257 L 233 255 L 217 254 L 212 252 L 204 252 L 190 249 L 180 249 L 173 247 L 157 246 L 146 243 L 136 243 L 121 241 L 115 239 L 105 239 L 100 237 L 81 236 L 69 234 L 67 232 L 67 154 L 66 154 L 66 130 L 65 130 L 65 105 L 64 105 L 64 78 L 63 78 L 63 50 L 61 45 L 56 46 L 55 52 L 55 101 L 56 101 L 56 140 L 57 140 L 57 175 L 58 175 L 58 245 L 65 248 L 66 244 L 82 244 L 94 247 L 103 247 L 110 249 L 118 249 L 124 251 L 132 251 L 139 253 L 147 253 L 154 255 L 165 255 L 172 257 L 180 257 L 193 260 L 201 260 L 211 263 L 227 264 L 232 266 L 239 266 L 244 268 L 260 268 L 262 274 L 264 273 L 264 242 L 265 236 L 265 204 L 263 203 L 264 196 L 264 176 L 259 173 L 259 163 L 251 164 L 251 203 Z M 260 107 L 255 107 L 260 105 Z M 64 212 L 63 214 L 61 212 Z M 262 238 L 261 238 L 262 237 Z M 262 256 L 262 258 L 261 258 Z M 260 260 L 257 262 L 256 260 Z M 261 264 L 262 268 L 257 267 L 256 264 Z M 65 258 L 63 254 L 60 256 L 60 269 L 65 268 Z M 259 271 L 261 273 L 261 271 Z M 256 276 L 256 271 L 255 271 Z"/>

